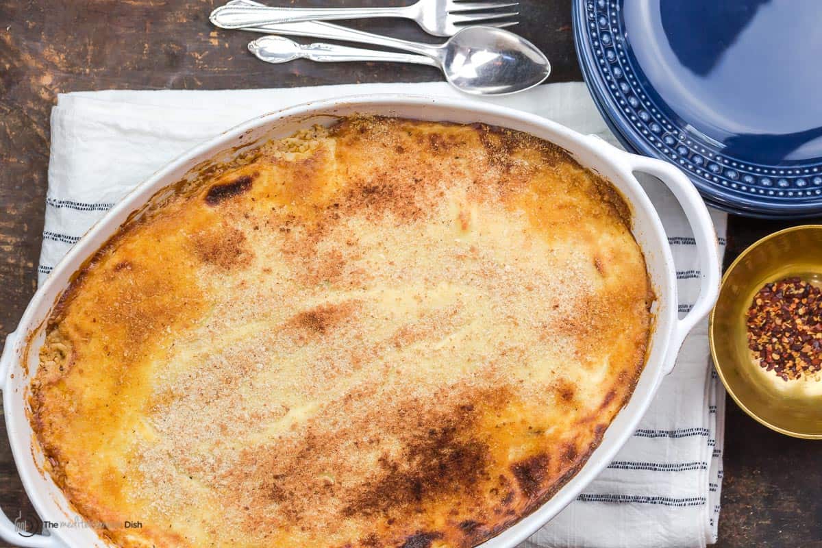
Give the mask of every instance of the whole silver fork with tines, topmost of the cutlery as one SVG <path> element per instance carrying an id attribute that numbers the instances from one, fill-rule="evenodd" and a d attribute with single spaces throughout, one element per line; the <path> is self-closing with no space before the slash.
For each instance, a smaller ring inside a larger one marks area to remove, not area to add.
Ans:
<path id="1" fill-rule="evenodd" d="M 453 36 L 465 25 L 485 25 L 499 28 L 516 25 L 510 21 L 519 12 L 498 12 L 503 7 L 514 7 L 519 2 L 506 0 L 418 0 L 403 7 L 268 7 L 229 2 L 211 12 L 210 20 L 224 29 L 294 23 L 298 21 L 334 21 L 363 17 L 402 17 L 413 19 L 428 34 Z M 507 19 L 509 21 L 500 21 Z"/>

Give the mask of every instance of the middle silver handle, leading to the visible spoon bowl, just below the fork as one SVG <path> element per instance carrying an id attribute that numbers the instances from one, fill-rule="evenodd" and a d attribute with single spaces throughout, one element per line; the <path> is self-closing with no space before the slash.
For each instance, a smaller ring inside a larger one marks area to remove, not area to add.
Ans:
<path id="1" fill-rule="evenodd" d="M 252 0 L 233 0 L 227 6 L 260 6 Z M 349 29 L 345 26 L 322 21 L 302 21 L 298 23 L 268 23 L 242 27 L 242 30 L 252 30 L 269 35 L 310 36 L 327 40 L 341 40 L 358 44 L 371 44 L 384 48 L 401 49 L 410 53 L 427 55 L 439 61 L 441 58 L 441 44 L 423 44 L 411 42 L 390 36 L 374 35 L 363 30 Z"/>

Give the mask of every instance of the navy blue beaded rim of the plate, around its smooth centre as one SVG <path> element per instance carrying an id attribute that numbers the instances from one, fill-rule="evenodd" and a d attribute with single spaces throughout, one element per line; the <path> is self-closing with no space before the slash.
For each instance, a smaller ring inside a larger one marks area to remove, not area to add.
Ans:
<path id="1" fill-rule="evenodd" d="M 735 159 L 682 130 L 658 108 L 635 76 L 623 44 L 624 0 L 575 0 L 574 39 L 594 104 L 627 149 L 682 169 L 709 205 L 761 218 L 822 214 L 822 162 L 774 166 Z"/>

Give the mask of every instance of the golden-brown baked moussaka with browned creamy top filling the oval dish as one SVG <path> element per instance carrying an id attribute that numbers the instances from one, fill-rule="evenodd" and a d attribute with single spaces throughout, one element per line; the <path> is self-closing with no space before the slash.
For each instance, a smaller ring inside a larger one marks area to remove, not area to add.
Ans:
<path id="1" fill-rule="evenodd" d="M 31 386 L 116 546 L 478 545 L 644 366 L 630 209 L 533 136 L 346 117 L 167 194 L 76 274 Z"/>

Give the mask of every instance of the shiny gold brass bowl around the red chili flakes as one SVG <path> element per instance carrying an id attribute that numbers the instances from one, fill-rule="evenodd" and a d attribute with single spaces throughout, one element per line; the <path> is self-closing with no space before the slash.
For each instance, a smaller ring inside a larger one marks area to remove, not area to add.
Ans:
<path id="1" fill-rule="evenodd" d="M 774 431 L 822 440 L 820 380 L 782 380 L 751 356 L 745 315 L 765 283 L 798 276 L 822 287 L 822 224 L 787 228 L 748 247 L 727 269 L 710 316 L 713 362 L 727 393 Z"/>

